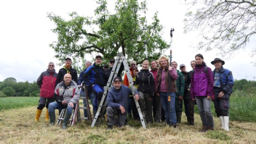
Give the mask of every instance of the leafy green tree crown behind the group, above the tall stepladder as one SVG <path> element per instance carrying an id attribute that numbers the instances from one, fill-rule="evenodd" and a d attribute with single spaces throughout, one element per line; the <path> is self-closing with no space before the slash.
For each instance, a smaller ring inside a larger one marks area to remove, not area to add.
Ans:
<path id="1" fill-rule="evenodd" d="M 50 46 L 56 52 L 55 57 L 60 61 L 67 56 L 83 58 L 86 53 L 101 53 L 105 61 L 117 56 L 118 50 L 128 60 L 142 63 L 145 56 L 147 41 L 148 59 L 158 59 L 169 45 L 161 38 L 162 25 L 157 12 L 148 24 L 145 15 L 146 1 L 138 3 L 136 0 L 117 0 L 115 14 L 110 14 L 106 7 L 106 0 L 98 0 L 94 10 L 96 18 L 79 16 L 76 12 L 69 14 L 70 20 L 64 20 L 53 13 L 48 18 L 56 24 L 53 33 L 58 35 L 58 41 Z M 95 29 L 85 29 L 96 27 Z"/>

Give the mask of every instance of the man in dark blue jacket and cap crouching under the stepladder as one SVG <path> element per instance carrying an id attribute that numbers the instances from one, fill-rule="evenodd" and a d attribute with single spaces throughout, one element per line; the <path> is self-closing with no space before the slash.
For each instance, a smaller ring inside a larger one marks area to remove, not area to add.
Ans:
<path id="1" fill-rule="evenodd" d="M 122 84 L 120 77 L 115 77 L 113 80 L 114 87 L 108 92 L 107 98 L 107 117 L 108 117 L 108 129 L 113 129 L 113 125 L 118 127 L 125 125 L 125 119 L 127 118 L 128 98 L 132 95 L 132 90 Z M 136 91 L 135 98 L 139 100 L 139 92 Z M 118 115 L 118 118 L 115 117 Z"/>

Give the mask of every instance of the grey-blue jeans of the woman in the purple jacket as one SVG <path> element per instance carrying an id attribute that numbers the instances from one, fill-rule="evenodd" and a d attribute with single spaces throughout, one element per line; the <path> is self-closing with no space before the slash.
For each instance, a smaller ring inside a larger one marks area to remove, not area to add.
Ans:
<path id="1" fill-rule="evenodd" d="M 207 96 L 196 96 L 195 98 L 203 125 L 213 127 L 214 122 L 211 114 L 211 99 L 207 99 Z"/>

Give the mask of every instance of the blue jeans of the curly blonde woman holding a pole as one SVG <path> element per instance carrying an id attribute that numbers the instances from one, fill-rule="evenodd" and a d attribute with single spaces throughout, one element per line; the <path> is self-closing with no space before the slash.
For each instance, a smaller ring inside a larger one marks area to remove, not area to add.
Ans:
<path id="1" fill-rule="evenodd" d="M 167 124 L 177 124 L 176 120 L 176 111 L 175 111 L 175 93 L 171 93 L 171 101 L 170 101 L 170 118 L 168 120 L 168 95 L 167 92 L 159 92 L 161 103 L 163 106 L 163 110 L 165 111 L 166 123 Z"/>

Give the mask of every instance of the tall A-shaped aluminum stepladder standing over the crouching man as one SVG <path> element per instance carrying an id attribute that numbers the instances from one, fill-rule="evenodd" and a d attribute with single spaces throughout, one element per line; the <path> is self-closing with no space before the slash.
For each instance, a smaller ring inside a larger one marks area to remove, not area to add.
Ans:
<path id="1" fill-rule="evenodd" d="M 101 113 L 101 115 L 103 116 L 103 113 L 104 113 L 104 111 L 106 109 L 106 103 L 107 103 L 106 95 L 107 95 L 108 91 L 111 89 L 111 84 L 113 83 L 113 78 L 117 76 L 117 73 L 118 73 L 118 71 L 119 71 L 119 69 L 121 67 L 122 62 L 124 64 L 124 69 L 125 69 L 125 72 L 126 72 L 127 77 L 128 77 L 129 86 L 132 87 L 133 98 L 135 96 L 135 91 L 137 89 L 132 85 L 132 75 L 131 75 L 131 72 L 130 72 L 130 69 L 129 69 L 128 62 L 127 62 L 126 58 L 123 56 L 122 53 L 118 53 L 118 55 L 116 57 L 116 60 L 114 62 L 112 71 L 110 73 L 110 76 L 109 76 L 109 79 L 108 79 L 108 83 L 104 87 L 104 93 L 103 93 L 101 102 L 99 103 L 99 107 L 98 107 L 97 113 L 96 113 L 96 115 L 95 115 L 95 117 L 93 119 L 93 123 L 91 124 L 92 128 L 94 127 L 94 125 L 95 125 L 95 123 L 96 123 L 96 121 L 98 119 L 99 113 Z M 104 105 L 103 105 L 103 103 L 104 103 Z M 143 128 L 146 128 L 146 125 L 145 125 L 145 122 L 144 122 L 144 119 L 143 119 L 143 115 L 142 115 L 142 112 L 140 110 L 140 106 L 139 106 L 138 101 L 135 100 L 135 104 L 136 104 L 136 107 L 137 107 L 138 112 L 139 112 L 140 122 L 142 123 Z M 101 118 L 98 121 L 99 121 L 99 124 L 100 124 Z"/>

